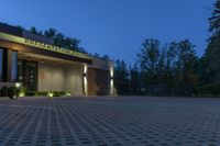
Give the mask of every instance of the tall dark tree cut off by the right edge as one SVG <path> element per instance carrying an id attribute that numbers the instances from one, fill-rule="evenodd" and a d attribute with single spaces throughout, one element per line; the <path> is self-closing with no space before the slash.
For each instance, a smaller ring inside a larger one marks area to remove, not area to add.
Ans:
<path id="1" fill-rule="evenodd" d="M 206 66 L 207 90 L 220 94 L 220 1 L 215 3 L 212 15 L 209 19 L 211 37 L 204 56 Z"/>

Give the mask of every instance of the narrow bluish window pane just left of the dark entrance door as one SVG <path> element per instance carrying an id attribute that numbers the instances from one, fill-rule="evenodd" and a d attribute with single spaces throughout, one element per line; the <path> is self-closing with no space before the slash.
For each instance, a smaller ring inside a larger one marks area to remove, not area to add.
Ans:
<path id="1" fill-rule="evenodd" d="M 11 81 L 18 81 L 18 53 L 12 52 Z"/>

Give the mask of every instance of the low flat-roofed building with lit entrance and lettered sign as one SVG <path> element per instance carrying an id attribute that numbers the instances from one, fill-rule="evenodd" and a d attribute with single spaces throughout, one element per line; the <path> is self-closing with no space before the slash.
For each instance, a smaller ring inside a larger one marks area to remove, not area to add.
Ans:
<path id="1" fill-rule="evenodd" d="M 0 88 L 21 82 L 30 91 L 113 94 L 113 65 L 54 41 L 0 23 Z"/>

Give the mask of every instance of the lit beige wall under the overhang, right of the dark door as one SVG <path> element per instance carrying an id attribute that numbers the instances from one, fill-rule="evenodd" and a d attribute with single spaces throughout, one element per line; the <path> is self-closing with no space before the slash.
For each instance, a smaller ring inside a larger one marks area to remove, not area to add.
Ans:
<path id="1" fill-rule="evenodd" d="M 54 65 L 38 63 L 38 91 L 69 91 L 82 94 L 81 65 Z"/>

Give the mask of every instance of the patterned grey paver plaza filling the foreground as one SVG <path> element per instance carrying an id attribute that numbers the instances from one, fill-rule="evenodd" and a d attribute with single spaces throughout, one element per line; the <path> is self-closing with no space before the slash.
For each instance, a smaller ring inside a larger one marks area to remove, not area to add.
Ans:
<path id="1" fill-rule="evenodd" d="M 0 145 L 216 146 L 220 99 L 0 99 Z"/>

